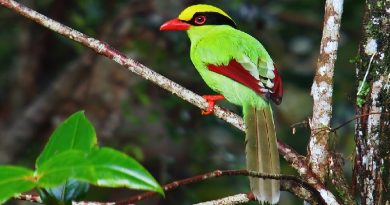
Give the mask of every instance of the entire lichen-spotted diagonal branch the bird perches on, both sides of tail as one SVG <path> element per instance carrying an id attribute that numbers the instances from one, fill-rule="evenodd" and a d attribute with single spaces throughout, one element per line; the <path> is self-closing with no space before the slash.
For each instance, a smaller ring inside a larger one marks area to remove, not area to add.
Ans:
<path id="1" fill-rule="evenodd" d="M 155 71 L 147 68 L 139 62 L 127 58 L 124 54 L 113 49 L 108 44 L 102 41 L 89 37 L 79 31 L 76 31 L 57 21 L 54 21 L 53 19 L 50 19 L 13 0 L 0 0 L 0 5 L 23 15 L 26 18 L 29 18 L 56 33 L 59 33 L 69 39 L 81 43 L 88 48 L 91 48 L 96 53 L 114 60 L 115 62 L 126 67 L 128 70 L 134 72 L 135 74 L 153 82 L 161 88 L 164 88 L 165 90 L 177 95 L 178 97 L 190 102 L 191 104 L 201 109 L 207 108 L 208 104 L 201 96 L 156 73 Z M 232 124 L 233 126 L 237 127 L 242 131 L 245 130 L 245 125 L 242 118 L 235 113 L 216 106 L 214 115 L 225 120 L 226 122 Z M 316 176 L 311 172 L 303 156 L 299 155 L 291 147 L 280 141 L 278 141 L 278 149 L 279 152 L 283 155 L 283 157 L 290 164 L 292 164 L 295 169 L 297 169 L 298 173 L 304 176 L 307 181 L 320 193 L 320 195 L 327 204 L 338 204 L 334 195 L 330 191 L 328 191 L 325 185 L 321 181 L 319 181 Z"/>

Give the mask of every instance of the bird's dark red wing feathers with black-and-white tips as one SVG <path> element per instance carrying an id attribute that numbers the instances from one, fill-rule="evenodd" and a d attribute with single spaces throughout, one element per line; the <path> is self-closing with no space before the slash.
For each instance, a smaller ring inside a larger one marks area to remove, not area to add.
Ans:
<path id="1" fill-rule="evenodd" d="M 227 65 L 207 64 L 207 68 L 247 86 L 279 105 L 283 95 L 279 72 L 273 63 L 272 66 L 262 64 L 260 60 L 258 65 L 254 64 L 248 56 L 243 54 L 241 58 L 231 59 Z"/>

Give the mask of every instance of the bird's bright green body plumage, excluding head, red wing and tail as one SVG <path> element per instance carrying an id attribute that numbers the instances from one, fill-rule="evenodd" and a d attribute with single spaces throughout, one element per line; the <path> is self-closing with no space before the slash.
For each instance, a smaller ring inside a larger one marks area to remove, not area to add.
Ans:
<path id="1" fill-rule="evenodd" d="M 207 68 L 207 64 L 227 65 L 230 60 L 239 60 L 245 55 L 254 64 L 259 62 L 259 72 L 267 73 L 267 63 L 272 66 L 273 63 L 259 41 L 230 26 L 193 27 L 188 30 L 188 36 L 191 39 L 191 60 L 208 86 L 236 105 L 268 106 L 250 88 Z"/>

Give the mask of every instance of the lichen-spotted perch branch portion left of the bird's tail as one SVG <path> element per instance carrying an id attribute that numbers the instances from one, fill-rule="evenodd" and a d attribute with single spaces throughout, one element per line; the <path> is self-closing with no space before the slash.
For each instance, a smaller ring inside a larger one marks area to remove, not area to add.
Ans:
<path id="1" fill-rule="evenodd" d="M 16 11 L 17 13 L 35 21 L 36 23 L 53 30 L 67 38 L 70 38 L 74 41 L 77 41 L 84 46 L 93 49 L 96 53 L 100 55 L 106 56 L 118 64 L 126 67 L 133 73 L 153 82 L 154 84 L 170 91 L 171 93 L 179 96 L 180 98 L 190 102 L 191 104 L 201 108 L 206 109 L 208 103 L 199 95 L 194 92 L 185 89 L 181 85 L 169 80 L 168 78 L 156 73 L 155 71 L 147 68 L 146 66 L 140 64 L 139 62 L 127 58 L 124 54 L 119 51 L 111 48 L 108 44 L 99 41 L 97 39 L 91 38 L 79 31 L 76 31 L 68 26 L 65 26 L 53 19 L 50 19 L 30 8 L 27 8 L 13 0 L 1 0 L 0 4 Z M 218 106 L 215 106 L 214 114 L 229 122 L 233 126 L 245 130 L 244 122 L 241 117 L 236 115 L 235 113 L 226 111 Z"/>

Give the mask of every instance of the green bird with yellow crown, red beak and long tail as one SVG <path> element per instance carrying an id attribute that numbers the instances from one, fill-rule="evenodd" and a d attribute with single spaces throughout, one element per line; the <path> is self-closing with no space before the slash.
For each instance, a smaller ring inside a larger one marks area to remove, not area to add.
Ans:
<path id="1" fill-rule="evenodd" d="M 190 57 L 205 83 L 218 94 L 202 96 L 213 113 L 216 101 L 242 106 L 246 124 L 245 153 L 248 171 L 280 174 L 280 161 L 271 102 L 283 97 L 278 69 L 264 48 L 251 35 L 239 30 L 222 9 L 197 4 L 161 25 L 161 31 L 186 31 Z M 280 181 L 249 177 L 257 201 L 276 204 Z"/>

